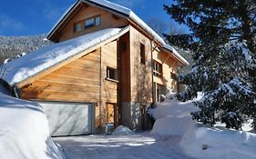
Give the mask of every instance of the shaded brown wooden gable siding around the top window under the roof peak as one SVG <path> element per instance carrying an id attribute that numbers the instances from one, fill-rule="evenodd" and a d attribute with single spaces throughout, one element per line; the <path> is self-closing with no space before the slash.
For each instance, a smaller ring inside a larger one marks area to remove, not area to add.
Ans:
<path id="1" fill-rule="evenodd" d="M 87 28 L 81 32 L 74 33 L 75 23 L 79 21 L 84 21 L 85 19 L 93 17 L 95 15 L 100 15 L 101 17 L 101 22 L 99 26 L 94 26 L 92 28 Z M 126 19 L 118 17 L 117 15 L 112 15 L 107 11 L 89 5 L 82 5 L 81 7 L 77 7 L 75 15 L 71 16 L 70 18 L 71 19 L 67 20 L 68 23 L 66 22 L 64 28 L 61 29 L 61 31 L 58 33 L 58 36 L 56 36 L 55 41 L 61 42 L 80 35 L 87 35 L 89 33 L 93 33 L 106 28 L 128 25 L 128 21 Z"/>

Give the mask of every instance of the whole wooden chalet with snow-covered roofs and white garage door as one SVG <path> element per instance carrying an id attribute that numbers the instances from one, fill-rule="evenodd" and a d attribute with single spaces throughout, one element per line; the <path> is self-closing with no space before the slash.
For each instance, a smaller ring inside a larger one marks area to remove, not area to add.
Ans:
<path id="1" fill-rule="evenodd" d="M 188 62 L 130 9 L 78 0 L 47 38 L 55 45 L 5 65 L 17 97 L 41 104 L 52 135 L 147 128 L 146 106 L 178 92 Z"/>

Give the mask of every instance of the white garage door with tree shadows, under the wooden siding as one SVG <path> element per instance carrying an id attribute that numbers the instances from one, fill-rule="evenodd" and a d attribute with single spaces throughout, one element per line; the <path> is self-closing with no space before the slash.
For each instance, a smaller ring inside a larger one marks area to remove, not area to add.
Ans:
<path id="1" fill-rule="evenodd" d="M 95 114 L 93 104 L 37 103 L 41 104 L 46 112 L 52 136 L 93 134 Z"/>

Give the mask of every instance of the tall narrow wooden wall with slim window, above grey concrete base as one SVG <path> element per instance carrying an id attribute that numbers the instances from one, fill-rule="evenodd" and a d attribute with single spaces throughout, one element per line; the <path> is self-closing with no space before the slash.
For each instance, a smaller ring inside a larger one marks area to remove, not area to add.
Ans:
<path id="1" fill-rule="evenodd" d="M 145 65 L 140 63 L 140 43 L 145 45 Z M 152 102 L 150 40 L 135 28 L 130 28 L 131 102 Z"/>

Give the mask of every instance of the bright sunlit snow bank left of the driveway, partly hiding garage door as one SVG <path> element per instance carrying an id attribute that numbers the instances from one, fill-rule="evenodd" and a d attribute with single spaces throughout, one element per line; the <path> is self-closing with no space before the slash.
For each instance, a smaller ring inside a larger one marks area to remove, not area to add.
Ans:
<path id="1" fill-rule="evenodd" d="M 0 93 L 0 158 L 61 159 L 37 104 Z"/>

